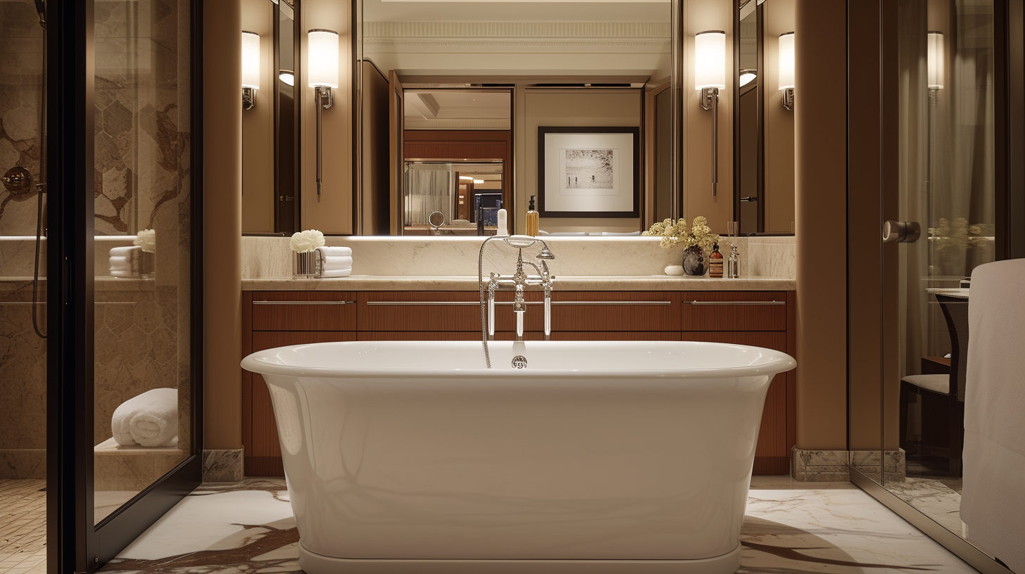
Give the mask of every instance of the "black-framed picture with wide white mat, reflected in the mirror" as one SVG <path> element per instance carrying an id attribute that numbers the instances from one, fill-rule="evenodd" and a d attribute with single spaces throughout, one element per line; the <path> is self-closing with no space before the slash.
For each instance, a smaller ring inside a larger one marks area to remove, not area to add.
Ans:
<path id="1" fill-rule="evenodd" d="M 537 128 L 541 217 L 640 217 L 641 128 Z"/>

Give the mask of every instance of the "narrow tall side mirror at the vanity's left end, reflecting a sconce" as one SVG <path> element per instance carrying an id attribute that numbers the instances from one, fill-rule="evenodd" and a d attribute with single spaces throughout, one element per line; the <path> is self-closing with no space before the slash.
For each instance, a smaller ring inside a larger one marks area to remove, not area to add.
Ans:
<path id="1" fill-rule="evenodd" d="M 258 43 L 252 40 L 252 50 L 243 42 L 243 84 L 258 86 L 242 102 L 246 234 L 291 235 L 300 229 L 298 10 L 298 0 L 242 0 L 242 29 L 258 38 Z"/>

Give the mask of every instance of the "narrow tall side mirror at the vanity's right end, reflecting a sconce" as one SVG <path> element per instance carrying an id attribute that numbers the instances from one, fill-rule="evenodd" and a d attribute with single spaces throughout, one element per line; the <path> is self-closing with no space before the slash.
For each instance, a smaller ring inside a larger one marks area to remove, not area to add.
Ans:
<path id="1" fill-rule="evenodd" d="M 737 9 L 733 212 L 745 235 L 793 233 L 793 3 Z"/>

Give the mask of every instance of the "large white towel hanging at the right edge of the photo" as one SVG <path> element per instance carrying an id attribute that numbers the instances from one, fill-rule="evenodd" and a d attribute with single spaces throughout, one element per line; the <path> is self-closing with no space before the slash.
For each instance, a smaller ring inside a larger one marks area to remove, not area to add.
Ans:
<path id="1" fill-rule="evenodd" d="M 965 386 L 968 541 L 1025 573 L 1025 259 L 979 265 L 969 300 Z"/>

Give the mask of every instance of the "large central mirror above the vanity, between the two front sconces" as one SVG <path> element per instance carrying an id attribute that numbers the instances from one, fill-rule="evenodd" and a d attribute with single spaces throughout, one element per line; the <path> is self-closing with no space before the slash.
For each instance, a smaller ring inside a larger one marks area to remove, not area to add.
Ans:
<path id="1" fill-rule="evenodd" d="M 531 196 L 541 207 L 559 194 L 568 209 L 542 216 L 544 233 L 640 234 L 669 216 L 672 2 L 357 2 L 356 233 L 490 235 L 499 206 L 522 233 Z M 540 157 L 552 127 L 567 150 L 610 152 Z M 623 128 L 637 130 L 637 165 L 612 137 Z M 577 184 L 545 184 L 558 169 L 581 170 Z M 610 216 L 610 194 L 632 203 Z"/>

